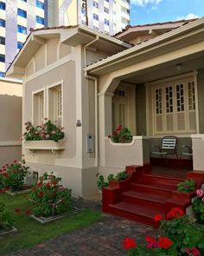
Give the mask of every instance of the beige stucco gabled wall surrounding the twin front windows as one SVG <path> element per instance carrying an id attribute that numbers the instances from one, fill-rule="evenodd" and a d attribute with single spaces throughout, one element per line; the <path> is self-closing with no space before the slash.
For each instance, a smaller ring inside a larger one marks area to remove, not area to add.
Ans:
<path id="1" fill-rule="evenodd" d="M 50 40 L 33 56 L 31 62 L 35 64 L 35 73 L 30 72 L 32 75 L 26 78 L 23 85 L 23 122 L 33 120 L 35 113 L 32 95 L 41 90 L 45 91 L 44 115 L 50 118 L 48 88 L 53 84 L 62 83 L 65 149 L 58 154 L 52 154 L 51 150 L 35 150 L 32 154 L 28 149 L 23 149 L 23 154 L 31 170 L 37 171 L 39 175 L 54 171 L 62 178 L 65 186 L 73 189 L 74 196 L 86 197 L 97 194 L 98 167 L 95 167 L 95 153 L 87 153 L 86 146 L 87 135 L 95 135 L 95 85 L 86 79 L 82 69 L 79 69 L 83 62 L 83 48 L 64 45 L 61 49 L 60 45 L 56 45 L 57 40 Z M 60 59 L 60 52 L 63 53 L 63 59 Z M 50 55 L 52 63 L 44 62 L 45 66 L 42 65 L 45 56 Z M 27 69 L 31 69 L 30 65 L 31 63 Z M 76 126 L 78 120 L 82 127 Z"/>

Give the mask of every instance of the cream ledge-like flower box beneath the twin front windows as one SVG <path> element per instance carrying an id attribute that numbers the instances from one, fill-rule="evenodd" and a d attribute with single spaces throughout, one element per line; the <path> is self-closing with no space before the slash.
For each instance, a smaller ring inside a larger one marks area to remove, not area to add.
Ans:
<path id="1" fill-rule="evenodd" d="M 24 148 L 31 152 L 35 152 L 36 150 L 50 150 L 52 153 L 55 153 L 56 151 L 65 149 L 65 141 L 25 141 Z"/>

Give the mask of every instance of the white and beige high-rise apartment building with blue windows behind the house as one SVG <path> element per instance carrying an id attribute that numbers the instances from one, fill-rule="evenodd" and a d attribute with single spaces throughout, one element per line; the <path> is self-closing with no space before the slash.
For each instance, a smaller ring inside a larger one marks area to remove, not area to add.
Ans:
<path id="1" fill-rule="evenodd" d="M 0 0 L 0 76 L 30 28 L 77 23 L 113 35 L 130 23 L 130 0 Z"/>

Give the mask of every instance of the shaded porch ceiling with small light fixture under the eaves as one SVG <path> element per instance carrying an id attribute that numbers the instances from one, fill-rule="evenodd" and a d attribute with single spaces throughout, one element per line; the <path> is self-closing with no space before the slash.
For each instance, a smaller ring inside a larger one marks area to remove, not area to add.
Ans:
<path id="1" fill-rule="evenodd" d="M 176 64 L 182 64 L 180 69 L 177 68 Z M 135 74 L 124 75 L 120 78 L 124 82 L 131 83 L 154 82 L 166 77 L 182 75 L 195 69 L 204 69 L 204 52 L 191 57 L 177 59 L 176 61 L 166 62 L 150 69 L 143 69 Z"/>

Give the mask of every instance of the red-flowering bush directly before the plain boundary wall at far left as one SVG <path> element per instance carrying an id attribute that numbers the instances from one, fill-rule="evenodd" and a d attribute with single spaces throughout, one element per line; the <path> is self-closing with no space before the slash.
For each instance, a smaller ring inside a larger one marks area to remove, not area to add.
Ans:
<path id="1" fill-rule="evenodd" d="M 24 188 L 24 182 L 29 175 L 29 167 L 25 166 L 25 161 L 14 161 L 13 164 L 6 164 L 1 170 L 2 186 L 10 188 L 11 192 Z"/>

